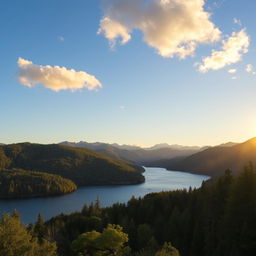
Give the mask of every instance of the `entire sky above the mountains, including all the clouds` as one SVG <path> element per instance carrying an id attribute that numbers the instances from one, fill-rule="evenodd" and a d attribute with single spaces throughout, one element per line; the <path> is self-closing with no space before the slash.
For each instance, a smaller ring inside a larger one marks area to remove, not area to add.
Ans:
<path id="1" fill-rule="evenodd" d="M 254 0 L 2 0 L 0 142 L 256 136 L 255 10 Z"/>

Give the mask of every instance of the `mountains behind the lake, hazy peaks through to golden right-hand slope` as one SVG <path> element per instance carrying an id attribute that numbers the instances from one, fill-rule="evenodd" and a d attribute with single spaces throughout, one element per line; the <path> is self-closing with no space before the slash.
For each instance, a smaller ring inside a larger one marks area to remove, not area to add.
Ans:
<path id="1" fill-rule="evenodd" d="M 243 143 L 227 142 L 214 147 L 186 147 L 157 144 L 149 148 L 107 143 L 62 142 L 73 147 L 95 150 L 112 159 L 148 167 L 187 171 L 209 176 L 220 176 L 226 169 L 236 175 L 249 163 L 256 165 L 256 138 Z"/>

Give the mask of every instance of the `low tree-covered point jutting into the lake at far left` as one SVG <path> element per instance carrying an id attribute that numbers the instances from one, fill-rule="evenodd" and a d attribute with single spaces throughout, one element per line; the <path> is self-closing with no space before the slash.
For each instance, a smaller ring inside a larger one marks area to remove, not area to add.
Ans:
<path id="1" fill-rule="evenodd" d="M 0 171 L 0 198 L 54 196 L 73 192 L 76 185 L 58 175 L 24 171 Z"/>

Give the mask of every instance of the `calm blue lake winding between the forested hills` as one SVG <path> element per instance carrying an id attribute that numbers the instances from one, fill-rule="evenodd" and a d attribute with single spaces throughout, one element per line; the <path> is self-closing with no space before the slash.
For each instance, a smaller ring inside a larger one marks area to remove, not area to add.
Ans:
<path id="1" fill-rule="evenodd" d="M 101 206 L 113 203 L 127 202 L 132 196 L 142 197 L 151 192 L 200 187 L 208 176 L 195 175 L 186 172 L 167 171 L 163 168 L 145 168 L 146 182 L 139 185 L 125 186 L 91 186 L 79 188 L 72 194 L 19 199 L 0 200 L 0 212 L 12 212 L 14 209 L 21 214 L 24 223 L 36 221 L 38 213 L 49 219 L 60 213 L 80 211 L 85 204 L 90 204 L 99 197 Z"/>

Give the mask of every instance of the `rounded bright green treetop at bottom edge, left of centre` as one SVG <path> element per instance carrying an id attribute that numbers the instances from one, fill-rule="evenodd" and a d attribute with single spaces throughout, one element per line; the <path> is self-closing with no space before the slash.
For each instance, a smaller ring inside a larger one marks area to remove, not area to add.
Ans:
<path id="1" fill-rule="evenodd" d="M 78 255 L 117 255 L 128 236 L 118 225 L 109 224 L 102 233 L 97 231 L 86 232 L 72 243 L 72 249 Z"/>

